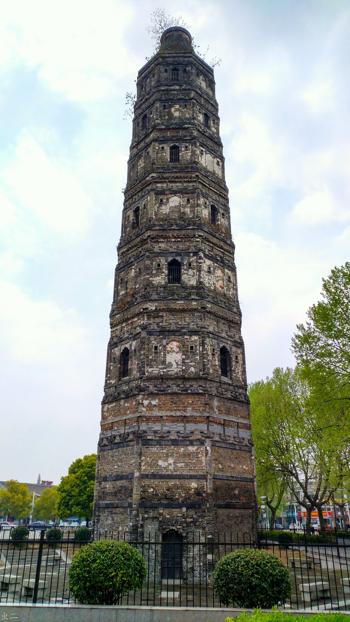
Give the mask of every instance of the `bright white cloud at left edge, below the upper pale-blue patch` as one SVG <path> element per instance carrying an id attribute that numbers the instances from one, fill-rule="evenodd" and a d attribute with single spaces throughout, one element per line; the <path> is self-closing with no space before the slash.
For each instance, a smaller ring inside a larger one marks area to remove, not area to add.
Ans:
<path id="1" fill-rule="evenodd" d="M 76 177 L 54 164 L 30 135 L 22 137 L 15 155 L 14 165 L 0 173 L 7 192 L 54 231 L 85 230 L 93 205 Z"/>

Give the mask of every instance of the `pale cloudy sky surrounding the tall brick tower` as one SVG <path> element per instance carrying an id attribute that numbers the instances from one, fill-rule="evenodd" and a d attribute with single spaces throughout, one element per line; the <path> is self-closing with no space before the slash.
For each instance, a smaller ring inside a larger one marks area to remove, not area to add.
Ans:
<path id="1" fill-rule="evenodd" d="M 0 480 L 97 448 L 153 0 L 0 0 Z M 348 0 L 177 0 L 215 68 L 248 381 L 350 259 Z"/>

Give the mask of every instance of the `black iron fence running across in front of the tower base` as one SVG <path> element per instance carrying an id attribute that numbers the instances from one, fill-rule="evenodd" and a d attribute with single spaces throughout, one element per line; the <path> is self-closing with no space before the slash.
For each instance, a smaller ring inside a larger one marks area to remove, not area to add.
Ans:
<path id="1" fill-rule="evenodd" d="M 95 539 L 122 539 L 143 555 L 147 577 L 141 590 L 124 595 L 121 605 L 222 606 L 212 590 L 212 572 L 229 552 L 260 547 L 279 557 L 288 568 L 291 597 L 285 609 L 350 610 L 350 534 L 325 535 L 273 530 L 250 534 L 200 534 L 177 532 L 140 536 L 126 532 L 98 533 Z M 29 538 L 11 539 L 11 530 L 0 531 L 0 602 L 70 603 L 69 568 L 72 557 L 86 541 L 74 530 L 62 540 L 45 540 L 44 531 Z"/>

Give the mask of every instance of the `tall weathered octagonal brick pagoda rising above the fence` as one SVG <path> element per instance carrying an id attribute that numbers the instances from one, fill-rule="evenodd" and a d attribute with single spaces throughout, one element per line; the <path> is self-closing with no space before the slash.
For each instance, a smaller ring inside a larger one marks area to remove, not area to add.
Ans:
<path id="1" fill-rule="evenodd" d="M 110 313 L 97 531 L 256 530 L 214 72 L 169 28 L 141 68 Z"/>

